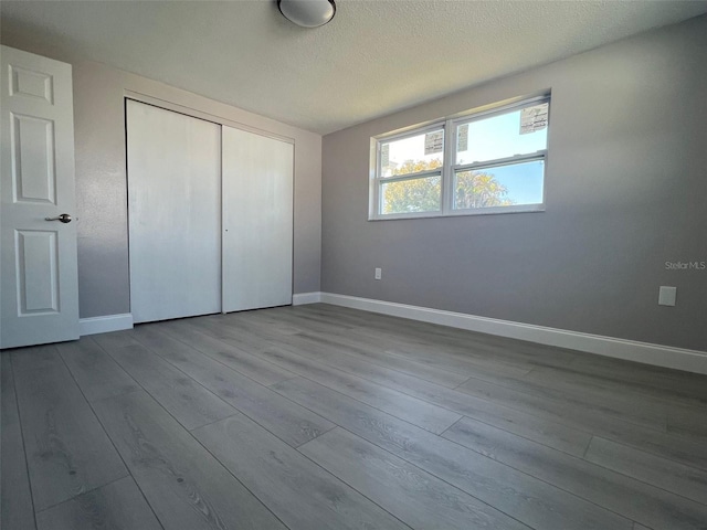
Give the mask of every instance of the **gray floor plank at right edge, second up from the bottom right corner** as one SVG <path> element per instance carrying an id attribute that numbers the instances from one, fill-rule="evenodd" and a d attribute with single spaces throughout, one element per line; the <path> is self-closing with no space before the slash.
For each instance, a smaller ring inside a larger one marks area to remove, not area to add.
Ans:
<path id="1" fill-rule="evenodd" d="M 623 475 L 707 505 L 707 471 L 616 444 L 592 438 L 584 458 Z"/>

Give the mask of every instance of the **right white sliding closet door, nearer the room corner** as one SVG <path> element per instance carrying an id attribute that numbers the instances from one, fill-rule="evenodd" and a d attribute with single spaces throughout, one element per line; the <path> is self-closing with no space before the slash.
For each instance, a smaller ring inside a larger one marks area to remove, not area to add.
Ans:
<path id="1" fill-rule="evenodd" d="M 292 304 L 292 144 L 223 126 L 223 312 Z"/>

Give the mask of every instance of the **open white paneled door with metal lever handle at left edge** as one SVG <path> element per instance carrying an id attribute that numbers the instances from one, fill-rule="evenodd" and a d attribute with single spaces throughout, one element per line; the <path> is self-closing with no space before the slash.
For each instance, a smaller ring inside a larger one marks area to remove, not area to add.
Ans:
<path id="1" fill-rule="evenodd" d="M 71 65 L 1 55 L 0 347 L 77 339 Z"/>

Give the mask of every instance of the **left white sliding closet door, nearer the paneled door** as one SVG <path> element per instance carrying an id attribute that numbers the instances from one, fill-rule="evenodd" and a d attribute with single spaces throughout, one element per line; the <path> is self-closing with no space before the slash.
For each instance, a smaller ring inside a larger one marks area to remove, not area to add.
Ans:
<path id="1" fill-rule="evenodd" d="M 127 102 L 136 322 L 221 311 L 221 127 Z"/>

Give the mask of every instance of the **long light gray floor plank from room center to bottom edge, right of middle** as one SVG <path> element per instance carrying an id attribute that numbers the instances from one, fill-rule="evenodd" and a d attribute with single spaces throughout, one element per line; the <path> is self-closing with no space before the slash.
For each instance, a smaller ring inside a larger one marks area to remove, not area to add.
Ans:
<path id="1" fill-rule="evenodd" d="M 291 379 L 273 389 L 531 528 L 631 528 L 625 518 L 315 382 Z"/>

